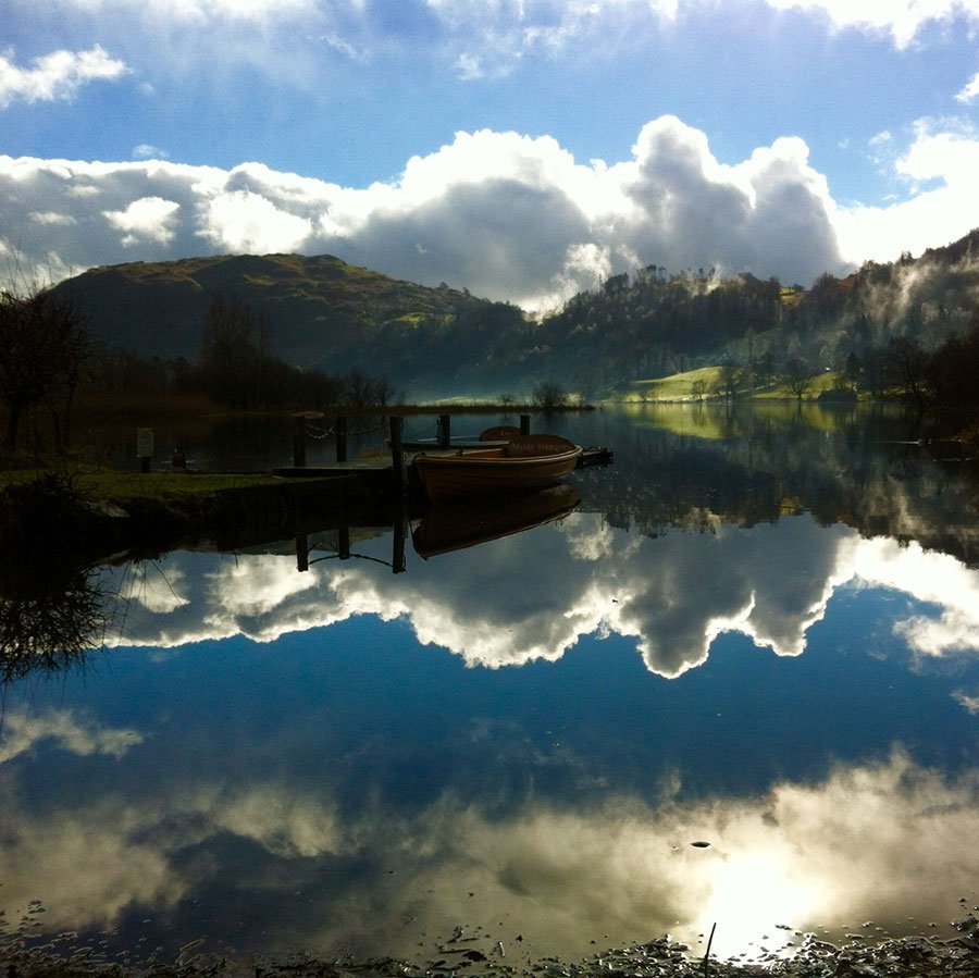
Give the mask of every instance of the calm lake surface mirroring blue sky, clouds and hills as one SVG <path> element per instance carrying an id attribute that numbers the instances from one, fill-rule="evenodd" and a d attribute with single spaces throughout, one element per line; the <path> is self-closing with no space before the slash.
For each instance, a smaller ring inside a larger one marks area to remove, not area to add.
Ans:
<path id="1" fill-rule="evenodd" d="M 95 572 L 106 647 L 0 693 L 7 920 L 235 956 L 431 958 L 464 927 L 519 964 L 703 955 L 714 924 L 723 956 L 943 933 L 979 903 L 956 446 L 870 413 L 548 426 L 615 465 L 570 511 L 474 518 L 524 532 L 409 535 L 404 573 L 387 527 L 349 559 L 310 536 L 305 572 L 295 541 Z M 256 465 L 287 460 L 263 437 Z"/>

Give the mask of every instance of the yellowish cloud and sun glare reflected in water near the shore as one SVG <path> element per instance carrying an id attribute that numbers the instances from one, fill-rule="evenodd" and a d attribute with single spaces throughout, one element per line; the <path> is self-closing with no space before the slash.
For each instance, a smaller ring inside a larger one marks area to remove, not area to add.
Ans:
<path id="1" fill-rule="evenodd" d="M 377 807 L 345 819 L 303 787 L 163 775 L 154 797 L 107 793 L 40 816 L 8 796 L 3 908 L 41 892 L 46 925 L 108 928 L 134 904 L 165 920 L 195 893 L 219 906 L 248 893 L 272 946 L 333 949 L 352 934 L 364 953 L 407 956 L 419 934 L 431 951 L 474 921 L 513 951 L 520 933 L 528 953 L 566 955 L 606 934 L 696 945 L 717 921 L 715 948 L 729 955 L 764 934 L 768 946 L 792 939 L 779 925 L 838 933 L 870 919 L 900 932 L 908 916 L 915 928 L 946 919 L 950 893 L 975 889 L 977 801 L 975 771 L 950 781 L 900 752 L 758 797 L 614 796 L 573 810 L 528 800 L 504 818 L 451 790 L 408 818 Z M 340 862 L 356 872 L 337 877 Z"/>

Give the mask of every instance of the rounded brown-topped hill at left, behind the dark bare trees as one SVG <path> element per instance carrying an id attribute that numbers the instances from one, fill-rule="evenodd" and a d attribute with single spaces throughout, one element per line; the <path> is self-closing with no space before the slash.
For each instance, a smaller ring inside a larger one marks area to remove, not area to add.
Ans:
<path id="1" fill-rule="evenodd" d="M 332 256 L 219 256 L 92 269 L 55 286 L 90 317 L 92 336 L 144 357 L 195 359 L 209 308 L 234 299 L 262 320 L 271 351 L 300 368 L 451 380 L 459 336 L 520 324 L 506 304 L 426 288 Z M 448 369 L 447 369 L 448 368 Z"/>

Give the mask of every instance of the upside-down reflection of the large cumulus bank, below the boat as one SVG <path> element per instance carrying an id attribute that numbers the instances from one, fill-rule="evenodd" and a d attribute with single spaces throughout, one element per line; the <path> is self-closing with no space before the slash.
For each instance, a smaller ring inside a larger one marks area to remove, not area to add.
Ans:
<path id="1" fill-rule="evenodd" d="M 404 619 L 419 642 L 470 667 L 554 661 L 584 636 L 617 634 L 635 641 L 649 671 L 672 678 L 704 663 L 724 631 L 776 655 L 802 655 L 833 594 L 869 584 L 933 606 L 895 624 L 912 652 L 937 657 L 979 648 L 976 571 L 917 544 L 820 528 L 809 516 L 749 531 L 718 522 L 711 533 L 650 540 L 597 513 L 574 512 L 531 532 L 532 568 L 521 537 L 444 555 L 435 566 L 416 560 L 396 580 L 364 565 L 327 561 L 300 574 L 290 556 L 174 554 L 160 561 L 156 586 L 142 578 L 121 585 L 129 605 L 124 641 L 174 647 L 244 634 L 269 642 L 374 615 Z M 389 540 L 376 546 L 369 553 L 389 559 Z M 596 575 L 595 561 L 609 553 L 614 565 Z M 701 586 L 704 567 L 715 569 L 708 591 Z M 161 587 L 172 590 L 166 599 L 159 598 Z M 488 592 L 492 607 L 481 598 Z M 500 615 L 506 629 L 495 627 Z"/>

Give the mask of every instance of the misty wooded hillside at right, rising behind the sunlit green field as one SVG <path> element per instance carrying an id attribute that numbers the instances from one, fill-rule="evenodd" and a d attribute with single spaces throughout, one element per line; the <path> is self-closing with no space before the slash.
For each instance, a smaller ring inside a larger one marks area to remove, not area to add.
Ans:
<path id="1" fill-rule="evenodd" d="M 541 332 L 553 359 L 587 391 L 726 363 L 751 366 L 765 382 L 786 369 L 867 372 L 895 338 L 931 349 L 965 332 L 977 305 L 974 231 L 918 259 L 821 275 L 808 289 L 648 265 L 575 296 Z"/>

